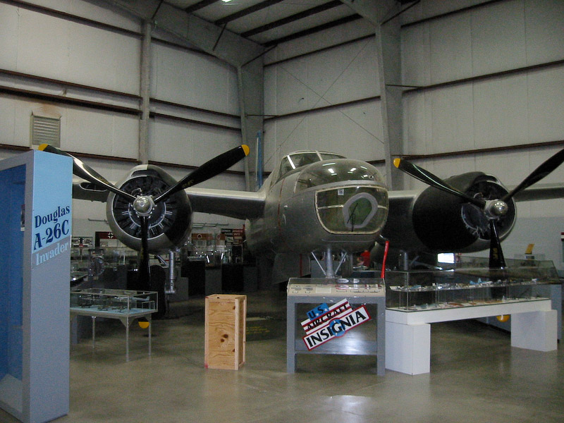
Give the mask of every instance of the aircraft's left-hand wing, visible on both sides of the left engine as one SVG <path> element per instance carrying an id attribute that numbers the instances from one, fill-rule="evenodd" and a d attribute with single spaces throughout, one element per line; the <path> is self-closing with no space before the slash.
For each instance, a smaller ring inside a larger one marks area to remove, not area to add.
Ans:
<path id="1" fill-rule="evenodd" d="M 252 219 L 264 212 L 264 192 L 235 190 L 214 190 L 209 188 L 188 188 L 193 212 L 220 214 L 235 219 Z M 73 182 L 73 198 L 105 202 L 108 191 L 90 182 Z"/>

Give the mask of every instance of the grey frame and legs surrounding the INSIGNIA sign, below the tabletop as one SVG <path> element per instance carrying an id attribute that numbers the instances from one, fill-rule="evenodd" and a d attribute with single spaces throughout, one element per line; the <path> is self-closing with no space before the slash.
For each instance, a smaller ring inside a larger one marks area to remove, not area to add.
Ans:
<path id="1" fill-rule="evenodd" d="M 288 373 L 295 372 L 295 357 L 297 354 L 345 354 L 332 348 L 331 341 L 314 350 L 307 350 L 301 338 L 296 338 L 296 306 L 298 304 L 321 304 L 326 302 L 334 304 L 347 299 L 351 305 L 373 304 L 376 305 L 376 341 L 365 341 L 359 345 L 358 355 L 376 355 L 376 371 L 379 376 L 386 373 L 386 296 L 350 296 L 343 295 L 288 295 L 286 315 L 286 367 Z M 374 317 L 372 317 L 374 319 Z M 350 354 L 350 353 L 347 353 Z"/>

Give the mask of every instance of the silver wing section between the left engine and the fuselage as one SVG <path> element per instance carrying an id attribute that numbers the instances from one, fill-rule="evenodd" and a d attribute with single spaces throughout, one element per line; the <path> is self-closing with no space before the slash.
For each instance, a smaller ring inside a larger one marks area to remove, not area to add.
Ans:
<path id="1" fill-rule="evenodd" d="M 188 188 L 194 212 L 220 214 L 235 219 L 253 219 L 264 212 L 264 192 Z"/>

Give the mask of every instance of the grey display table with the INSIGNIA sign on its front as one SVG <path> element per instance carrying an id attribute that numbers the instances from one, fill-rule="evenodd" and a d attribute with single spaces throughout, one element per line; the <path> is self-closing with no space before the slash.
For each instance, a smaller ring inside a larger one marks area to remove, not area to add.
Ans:
<path id="1" fill-rule="evenodd" d="M 377 374 L 385 374 L 386 288 L 382 279 L 290 278 L 287 293 L 288 373 L 295 372 L 298 354 L 342 354 L 374 355 Z"/>

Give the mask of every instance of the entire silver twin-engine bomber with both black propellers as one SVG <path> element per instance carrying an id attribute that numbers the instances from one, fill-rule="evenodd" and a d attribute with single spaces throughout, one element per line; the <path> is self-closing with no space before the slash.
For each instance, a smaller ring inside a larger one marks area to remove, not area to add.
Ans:
<path id="1" fill-rule="evenodd" d="M 371 164 L 329 152 L 302 151 L 283 157 L 257 192 L 192 188 L 244 157 L 245 147 L 212 159 L 178 183 L 157 166 L 140 165 L 114 186 L 73 157 L 75 175 L 87 180 L 74 187 L 73 196 L 106 201 L 116 238 L 142 251 L 144 278 L 149 252 L 185 242 L 192 212 L 246 219 L 247 245 L 255 255 L 273 259 L 273 282 L 309 273 L 310 253 L 331 278 L 338 271 L 333 266 L 335 253 L 341 254 L 341 266 L 350 253 L 376 241 L 384 245 L 384 240 L 412 254 L 490 247 L 491 266 L 503 267 L 500 243 L 515 223 L 515 199 L 526 197 L 526 188 L 564 161 L 563 149 L 509 191 L 482 172 L 441 180 L 396 159 L 400 170 L 431 186 L 388 192 Z M 50 146 L 44 150 L 69 155 Z M 324 258 L 320 262 L 318 257 Z"/>

